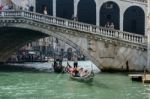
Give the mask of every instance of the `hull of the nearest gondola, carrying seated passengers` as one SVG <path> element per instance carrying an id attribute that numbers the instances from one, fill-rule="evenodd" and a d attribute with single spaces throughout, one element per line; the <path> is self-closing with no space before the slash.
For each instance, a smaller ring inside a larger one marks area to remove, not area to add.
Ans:
<path id="1" fill-rule="evenodd" d="M 94 79 L 94 72 L 91 71 L 90 74 L 83 76 L 83 77 L 75 77 L 72 74 L 70 74 L 70 78 L 73 80 L 80 81 L 80 82 L 91 83 L 93 82 L 93 79 Z"/>

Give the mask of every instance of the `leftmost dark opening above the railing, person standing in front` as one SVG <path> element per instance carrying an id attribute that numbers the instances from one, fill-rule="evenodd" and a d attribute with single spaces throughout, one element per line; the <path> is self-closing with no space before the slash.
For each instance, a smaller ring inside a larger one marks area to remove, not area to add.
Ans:
<path id="1" fill-rule="evenodd" d="M 53 15 L 53 0 L 36 0 L 36 12 L 43 14 L 44 7 L 47 7 L 48 15 Z"/>

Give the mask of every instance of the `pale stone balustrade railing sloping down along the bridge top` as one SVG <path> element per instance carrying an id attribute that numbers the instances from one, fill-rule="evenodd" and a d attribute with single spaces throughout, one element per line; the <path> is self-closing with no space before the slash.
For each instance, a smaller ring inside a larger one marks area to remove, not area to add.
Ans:
<path id="1" fill-rule="evenodd" d="M 23 17 L 26 19 L 31 19 L 39 22 L 43 22 L 50 25 L 56 25 L 60 27 L 70 28 L 74 30 L 79 30 L 83 32 L 92 33 L 95 35 L 101 35 L 104 37 L 119 39 L 131 43 L 145 44 L 147 38 L 143 35 L 138 35 L 134 33 L 119 31 L 110 28 L 99 27 L 91 24 L 86 24 L 82 22 L 67 20 L 63 18 L 57 18 L 49 15 L 43 15 L 35 12 L 27 11 L 4 11 L 1 13 L 2 17 Z"/>

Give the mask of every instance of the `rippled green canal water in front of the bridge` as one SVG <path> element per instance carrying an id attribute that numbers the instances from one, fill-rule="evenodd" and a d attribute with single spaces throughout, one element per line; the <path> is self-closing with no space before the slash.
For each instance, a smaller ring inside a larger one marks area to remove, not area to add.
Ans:
<path id="1" fill-rule="evenodd" d="M 0 72 L 0 99 L 150 99 L 150 85 L 101 73 L 92 84 L 68 74 Z"/>

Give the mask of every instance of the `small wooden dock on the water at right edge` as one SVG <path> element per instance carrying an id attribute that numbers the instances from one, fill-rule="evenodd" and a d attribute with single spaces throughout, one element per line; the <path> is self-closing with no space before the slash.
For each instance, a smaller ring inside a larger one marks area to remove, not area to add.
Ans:
<path id="1" fill-rule="evenodd" d="M 143 83 L 150 83 L 150 74 L 129 74 L 133 81 L 140 81 Z"/>

